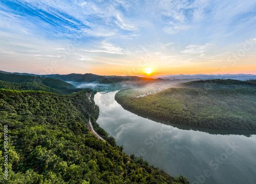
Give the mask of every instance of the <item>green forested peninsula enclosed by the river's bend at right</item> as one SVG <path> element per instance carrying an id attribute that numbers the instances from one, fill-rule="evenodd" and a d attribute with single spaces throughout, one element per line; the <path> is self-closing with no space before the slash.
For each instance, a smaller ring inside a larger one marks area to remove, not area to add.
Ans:
<path id="1" fill-rule="evenodd" d="M 170 123 L 256 130 L 255 81 L 193 81 L 141 98 L 119 91 L 115 99 L 127 110 Z"/>

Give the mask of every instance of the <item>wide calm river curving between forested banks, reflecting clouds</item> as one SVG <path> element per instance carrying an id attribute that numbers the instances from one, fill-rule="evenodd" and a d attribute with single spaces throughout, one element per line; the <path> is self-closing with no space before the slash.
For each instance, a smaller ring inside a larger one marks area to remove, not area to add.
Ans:
<path id="1" fill-rule="evenodd" d="M 255 184 L 256 132 L 211 130 L 165 125 L 127 111 L 114 97 L 100 92 L 97 123 L 126 154 L 142 156 L 150 165 L 190 183 Z"/>

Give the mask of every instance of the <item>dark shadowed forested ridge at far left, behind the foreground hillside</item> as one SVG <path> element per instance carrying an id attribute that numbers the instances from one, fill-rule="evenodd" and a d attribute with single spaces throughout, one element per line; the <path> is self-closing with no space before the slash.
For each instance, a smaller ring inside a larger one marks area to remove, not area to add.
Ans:
<path id="1" fill-rule="evenodd" d="M 46 85 L 48 87 L 66 91 L 68 89 L 74 88 L 74 86 L 70 83 L 52 79 L 47 77 L 38 77 L 38 76 L 25 76 L 25 75 L 16 75 L 16 74 L 3 74 L 0 73 L 0 80 L 7 82 L 15 82 L 15 83 L 36 83 L 40 85 Z"/>

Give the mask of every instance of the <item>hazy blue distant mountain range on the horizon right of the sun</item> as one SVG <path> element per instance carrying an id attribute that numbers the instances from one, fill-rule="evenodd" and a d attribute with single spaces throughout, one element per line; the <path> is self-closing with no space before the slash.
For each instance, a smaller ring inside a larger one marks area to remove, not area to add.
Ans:
<path id="1" fill-rule="evenodd" d="M 250 79 L 256 79 L 256 75 L 252 74 L 224 74 L 224 75 L 205 75 L 205 74 L 195 74 L 195 75 L 164 75 L 164 76 L 158 76 L 154 77 L 162 78 L 162 79 L 234 79 L 234 80 L 250 80 Z"/>

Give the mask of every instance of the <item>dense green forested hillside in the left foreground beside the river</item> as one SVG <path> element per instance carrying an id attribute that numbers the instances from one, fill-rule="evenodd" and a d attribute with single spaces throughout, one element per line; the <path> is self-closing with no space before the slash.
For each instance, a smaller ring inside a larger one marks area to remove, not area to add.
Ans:
<path id="1" fill-rule="evenodd" d="M 99 112 L 88 93 L 0 89 L 0 126 L 8 126 L 9 152 L 6 180 L 1 131 L 0 183 L 188 183 L 127 156 L 113 139 L 98 140 L 85 126 Z"/>

